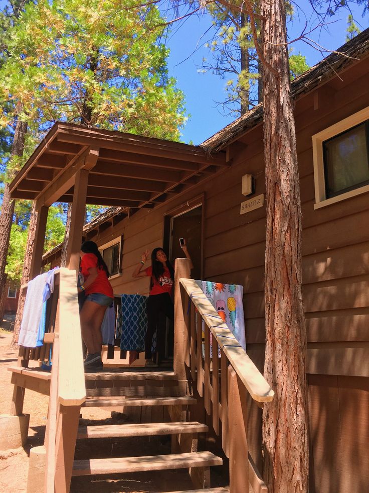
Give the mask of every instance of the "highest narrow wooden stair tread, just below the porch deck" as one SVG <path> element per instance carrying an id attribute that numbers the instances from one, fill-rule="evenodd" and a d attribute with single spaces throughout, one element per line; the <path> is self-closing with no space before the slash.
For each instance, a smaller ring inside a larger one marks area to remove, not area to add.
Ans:
<path id="1" fill-rule="evenodd" d="M 193 397 L 129 397 L 121 399 L 109 399 L 104 397 L 86 397 L 86 401 L 82 407 L 86 408 L 101 408 L 105 406 L 187 406 L 196 404 L 196 399 Z"/>

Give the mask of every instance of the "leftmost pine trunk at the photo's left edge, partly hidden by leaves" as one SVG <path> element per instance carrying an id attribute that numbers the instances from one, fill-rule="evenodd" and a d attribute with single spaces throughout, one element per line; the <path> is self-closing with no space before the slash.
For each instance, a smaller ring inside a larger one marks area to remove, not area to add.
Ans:
<path id="1" fill-rule="evenodd" d="M 25 146 L 27 132 L 27 123 L 21 120 L 17 121 L 14 140 L 12 146 L 12 156 L 22 156 Z M 10 240 L 10 232 L 13 223 L 15 201 L 11 200 L 9 184 L 5 184 L 2 211 L 0 214 L 0 294 L 4 300 L 4 290 L 6 284 L 5 267 L 7 265 L 7 256 Z M 4 303 L 0 313 L 0 321 L 4 318 Z"/>

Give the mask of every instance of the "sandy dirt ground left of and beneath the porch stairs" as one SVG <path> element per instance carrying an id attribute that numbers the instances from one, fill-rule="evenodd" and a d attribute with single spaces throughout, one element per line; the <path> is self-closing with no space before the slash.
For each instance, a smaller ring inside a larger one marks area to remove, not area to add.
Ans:
<path id="1" fill-rule="evenodd" d="M 9 414 L 13 394 L 9 365 L 17 361 L 18 350 L 9 348 L 12 333 L 0 329 L 0 414 Z M 23 493 L 27 491 L 29 453 L 32 447 L 44 443 L 47 421 L 48 397 L 26 390 L 24 413 L 30 414 L 29 440 L 23 448 L 0 451 L 0 491 Z M 111 412 L 119 408 L 82 408 L 80 424 L 116 424 L 128 421 L 121 414 L 112 418 Z M 123 421 L 119 421 L 123 419 Z M 97 457 L 131 457 L 170 453 L 169 441 L 161 437 L 135 437 L 78 440 L 76 459 Z M 222 485 L 217 472 L 212 473 L 212 486 Z M 82 476 L 72 479 L 72 493 L 164 493 L 179 489 L 192 489 L 186 470 L 153 471 L 122 475 Z"/>

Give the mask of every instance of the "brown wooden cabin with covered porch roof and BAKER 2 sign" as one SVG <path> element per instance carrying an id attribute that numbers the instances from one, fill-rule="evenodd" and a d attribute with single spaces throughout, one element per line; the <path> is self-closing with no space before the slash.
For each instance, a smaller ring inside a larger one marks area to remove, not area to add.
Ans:
<path id="1" fill-rule="evenodd" d="M 293 81 L 303 215 L 310 493 L 369 489 L 369 30 Z M 82 236 L 114 250 L 116 293 L 148 292 L 132 272 L 145 249 L 192 253 L 193 277 L 242 284 L 247 355 L 263 371 L 265 173 L 258 105 L 201 146 L 56 123 L 13 181 L 40 211 L 72 202 L 69 268 Z M 84 157 L 84 159 L 81 159 Z M 349 165 L 349 169 L 347 169 Z M 244 192 L 244 194 L 243 194 Z M 112 206 L 87 225 L 84 205 Z M 207 411 L 203 410 L 204 422 Z M 262 472 L 261 410 L 250 400 L 248 447 Z"/>

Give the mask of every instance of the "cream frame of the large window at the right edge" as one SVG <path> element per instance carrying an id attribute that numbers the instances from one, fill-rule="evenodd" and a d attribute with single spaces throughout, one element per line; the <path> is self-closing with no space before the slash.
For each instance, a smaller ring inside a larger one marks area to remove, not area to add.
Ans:
<path id="1" fill-rule="evenodd" d="M 325 198 L 325 179 L 324 179 L 324 162 L 323 162 L 323 142 L 335 135 L 341 134 L 346 130 L 359 125 L 369 119 L 369 107 L 364 108 L 357 113 L 341 120 L 334 125 L 322 130 L 311 137 L 313 142 L 313 162 L 314 162 L 314 183 L 315 183 L 315 204 L 314 209 L 329 206 L 361 193 L 369 192 L 369 185 L 363 185 L 354 190 L 350 190 L 330 199 Z"/>

